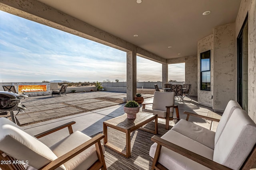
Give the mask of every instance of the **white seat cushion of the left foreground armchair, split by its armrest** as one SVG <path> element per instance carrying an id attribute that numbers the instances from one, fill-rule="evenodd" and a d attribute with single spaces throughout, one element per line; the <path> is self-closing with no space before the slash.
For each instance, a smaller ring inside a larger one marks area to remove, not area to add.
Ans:
<path id="1" fill-rule="evenodd" d="M 91 138 L 84 133 L 76 131 L 68 137 L 62 139 L 58 143 L 52 145 L 50 149 L 58 157 L 60 157 L 90 139 Z M 104 146 L 102 146 L 102 151 L 104 153 Z M 90 166 L 92 166 L 92 164 L 94 164 L 94 162 L 96 162 L 97 160 L 98 156 L 96 153 L 96 147 L 95 145 L 92 145 L 88 149 L 76 155 L 74 158 L 68 160 L 66 163 L 64 163 L 64 166 L 67 170 L 85 170 L 90 168 Z"/>

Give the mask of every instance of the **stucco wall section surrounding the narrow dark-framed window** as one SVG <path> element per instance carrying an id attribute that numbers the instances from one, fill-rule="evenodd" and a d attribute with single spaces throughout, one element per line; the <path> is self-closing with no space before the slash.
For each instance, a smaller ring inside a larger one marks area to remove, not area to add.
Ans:
<path id="1" fill-rule="evenodd" d="M 211 50 L 211 91 L 200 90 L 200 53 Z M 197 43 L 197 72 L 198 72 L 198 103 L 212 107 L 213 95 L 213 34 L 201 39 Z"/>

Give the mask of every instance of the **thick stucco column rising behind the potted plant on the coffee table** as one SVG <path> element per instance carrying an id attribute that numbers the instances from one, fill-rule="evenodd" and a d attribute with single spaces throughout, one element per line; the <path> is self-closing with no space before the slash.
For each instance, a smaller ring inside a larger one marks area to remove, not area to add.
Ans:
<path id="1" fill-rule="evenodd" d="M 127 101 L 133 100 L 136 96 L 136 79 L 137 79 L 137 68 L 136 68 L 136 52 L 130 51 L 126 53 L 126 95 Z"/>

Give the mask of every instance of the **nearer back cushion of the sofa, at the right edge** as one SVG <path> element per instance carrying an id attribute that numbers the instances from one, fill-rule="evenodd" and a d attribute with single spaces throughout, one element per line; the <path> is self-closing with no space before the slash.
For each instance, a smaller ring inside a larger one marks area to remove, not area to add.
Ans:
<path id="1" fill-rule="evenodd" d="M 242 109 L 235 109 L 214 148 L 213 160 L 238 170 L 256 144 L 256 124 Z"/>

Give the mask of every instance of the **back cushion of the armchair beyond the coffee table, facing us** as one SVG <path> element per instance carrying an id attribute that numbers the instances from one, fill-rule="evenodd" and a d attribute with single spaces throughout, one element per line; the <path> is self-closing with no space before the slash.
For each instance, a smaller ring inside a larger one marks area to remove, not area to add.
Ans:
<path id="1" fill-rule="evenodd" d="M 166 111 L 166 106 L 174 105 L 174 92 L 155 92 L 152 109 Z M 173 112 L 173 107 L 170 108 Z"/>

